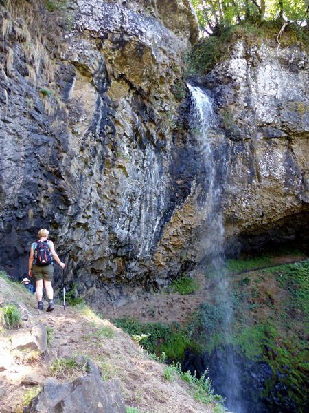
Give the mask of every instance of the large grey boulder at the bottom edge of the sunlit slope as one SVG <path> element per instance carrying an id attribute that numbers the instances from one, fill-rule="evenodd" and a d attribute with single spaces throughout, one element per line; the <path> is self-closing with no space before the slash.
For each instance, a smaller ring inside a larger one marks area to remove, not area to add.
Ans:
<path id="1" fill-rule="evenodd" d="M 25 413 L 125 413 L 120 382 L 102 381 L 98 368 L 89 362 L 90 373 L 60 384 L 45 381 L 41 392 L 25 407 Z"/>

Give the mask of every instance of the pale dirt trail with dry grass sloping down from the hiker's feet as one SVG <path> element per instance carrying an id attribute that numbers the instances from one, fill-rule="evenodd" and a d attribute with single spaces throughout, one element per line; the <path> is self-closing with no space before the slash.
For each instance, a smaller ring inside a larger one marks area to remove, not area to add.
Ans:
<path id="1" fill-rule="evenodd" d="M 24 297 L 14 295 L 14 299 L 22 301 Z M 25 395 L 52 376 L 52 363 L 79 355 L 92 359 L 105 380 L 119 379 L 125 405 L 136 407 L 139 412 L 213 412 L 211 407 L 194 401 L 187 383 L 177 377 L 173 382 L 165 381 L 163 364 L 149 359 L 130 336 L 89 308 L 66 308 L 64 312 L 62 306 L 55 306 L 52 313 L 38 312 L 34 309 L 34 297 L 27 294 L 27 300 L 25 307 L 30 317 L 17 332 L 27 332 L 32 325 L 41 323 L 53 329 L 54 337 L 45 354 L 25 362 L 15 359 L 10 352 L 10 335 L 16 330 L 0 335 L 0 354 L 8 361 L 4 370 L 0 368 L 1 413 L 21 413 Z M 71 380 L 73 377 L 60 379 Z"/>

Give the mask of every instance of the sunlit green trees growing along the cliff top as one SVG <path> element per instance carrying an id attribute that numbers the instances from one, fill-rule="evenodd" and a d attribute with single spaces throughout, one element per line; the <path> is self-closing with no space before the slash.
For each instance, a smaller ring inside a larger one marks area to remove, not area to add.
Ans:
<path id="1" fill-rule="evenodd" d="M 308 0 L 192 0 L 201 29 L 216 34 L 223 28 L 264 20 L 308 23 Z"/>

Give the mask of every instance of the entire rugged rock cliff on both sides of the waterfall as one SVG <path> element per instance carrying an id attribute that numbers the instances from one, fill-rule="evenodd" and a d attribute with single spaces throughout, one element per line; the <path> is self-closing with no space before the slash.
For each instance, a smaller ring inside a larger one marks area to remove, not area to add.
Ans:
<path id="1" fill-rule="evenodd" d="M 46 226 L 67 283 L 93 300 L 199 262 L 209 182 L 183 85 L 198 37 L 190 1 L 0 7 L 1 266 L 22 275 Z M 253 246 L 295 237 L 308 211 L 305 54 L 276 47 L 240 40 L 192 80 L 214 103 L 225 237 Z"/>

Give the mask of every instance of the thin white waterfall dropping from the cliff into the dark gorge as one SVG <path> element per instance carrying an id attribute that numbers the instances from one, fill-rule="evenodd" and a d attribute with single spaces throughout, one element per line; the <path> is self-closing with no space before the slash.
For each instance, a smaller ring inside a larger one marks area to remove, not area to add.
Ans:
<path id="1" fill-rule="evenodd" d="M 214 281 L 216 283 L 216 303 L 220 304 L 223 311 L 222 332 L 226 342 L 230 337 L 233 322 L 233 307 L 231 305 L 231 289 L 229 274 L 225 266 L 224 235 L 225 229 L 222 215 L 222 168 L 227 160 L 225 151 L 218 150 L 216 141 L 211 140 L 211 127 L 214 128 L 214 112 L 211 100 L 201 87 L 187 85 L 190 91 L 190 131 L 196 140 L 198 151 L 205 162 L 205 255 L 209 255 L 210 265 L 214 268 Z M 211 372 L 210 372 L 211 376 Z M 226 346 L 225 366 L 220 374 L 220 388 L 215 390 L 225 397 L 225 403 L 234 413 L 245 413 L 240 396 L 241 386 L 235 362 L 235 352 L 231 346 Z"/>

